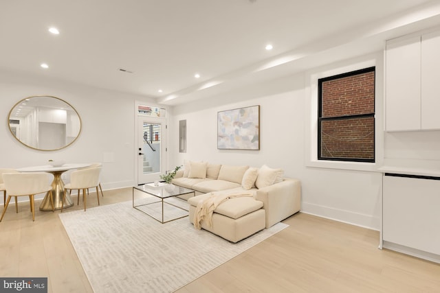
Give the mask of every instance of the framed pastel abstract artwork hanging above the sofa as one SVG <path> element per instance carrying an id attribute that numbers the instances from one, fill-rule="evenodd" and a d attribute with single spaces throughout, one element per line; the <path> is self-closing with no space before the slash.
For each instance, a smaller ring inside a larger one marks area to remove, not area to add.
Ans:
<path id="1" fill-rule="evenodd" d="M 260 150 L 260 105 L 217 113 L 217 149 Z"/>

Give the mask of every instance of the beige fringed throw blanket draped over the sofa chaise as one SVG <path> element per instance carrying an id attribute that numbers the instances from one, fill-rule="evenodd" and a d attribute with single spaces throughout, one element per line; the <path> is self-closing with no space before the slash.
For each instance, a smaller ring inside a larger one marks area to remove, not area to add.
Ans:
<path id="1" fill-rule="evenodd" d="M 208 227 L 212 228 L 212 213 L 219 204 L 230 198 L 239 198 L 241 196 L 253 196 L 250 193 L 241 194 L 212 194 L 211 196 L 197 203 L 194 213 L 194 227 L 201 229 L 201 222 L 206 222 Z"/>

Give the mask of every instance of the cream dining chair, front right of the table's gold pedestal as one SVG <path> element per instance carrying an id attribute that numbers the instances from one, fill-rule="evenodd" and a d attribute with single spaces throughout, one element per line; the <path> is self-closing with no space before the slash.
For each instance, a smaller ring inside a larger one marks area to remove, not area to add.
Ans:
<path id="1" fill-rule="evenodd" d="M 64 207 L 64 201 L 65 201 L 65 195 L 67 192 L 69 194 L 72 190 L 76 189 L 78 190 L 78 204 L 80 199 L 80 190 L 83 190 L 83 202 L 84 202 L 84 211 L 87 207 L 87 190 L 89 188 L 96 188 L 96 198 L 98 198 L 98 205 L 99 203 L 99 176 L 100 176 L 101 168 L 86 168 L 86 169 L 78 169 L 72 174 L 70 174 L 70 183 L 67 183 L 64 186 L 64 195 L 63 195 L 63 201 L 61 202 L 61 212 L 63 212 Z"/>

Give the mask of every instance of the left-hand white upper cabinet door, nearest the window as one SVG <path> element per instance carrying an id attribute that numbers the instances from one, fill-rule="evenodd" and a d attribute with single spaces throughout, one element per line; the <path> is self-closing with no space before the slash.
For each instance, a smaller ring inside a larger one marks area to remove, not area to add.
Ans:
<path id="1" fill-rule="evenodd" d="M 386 131 L 421 128 L 420 39 L 386 43 Z"/>

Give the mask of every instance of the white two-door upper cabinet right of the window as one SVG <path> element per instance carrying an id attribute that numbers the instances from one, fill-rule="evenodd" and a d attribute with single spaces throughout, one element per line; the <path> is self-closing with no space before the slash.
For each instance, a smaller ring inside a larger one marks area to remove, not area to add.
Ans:
<path id="1" fill-rule="evenodd" d="M 386 43 L 386 131 L 440 129 L 440 32 Z"/>

